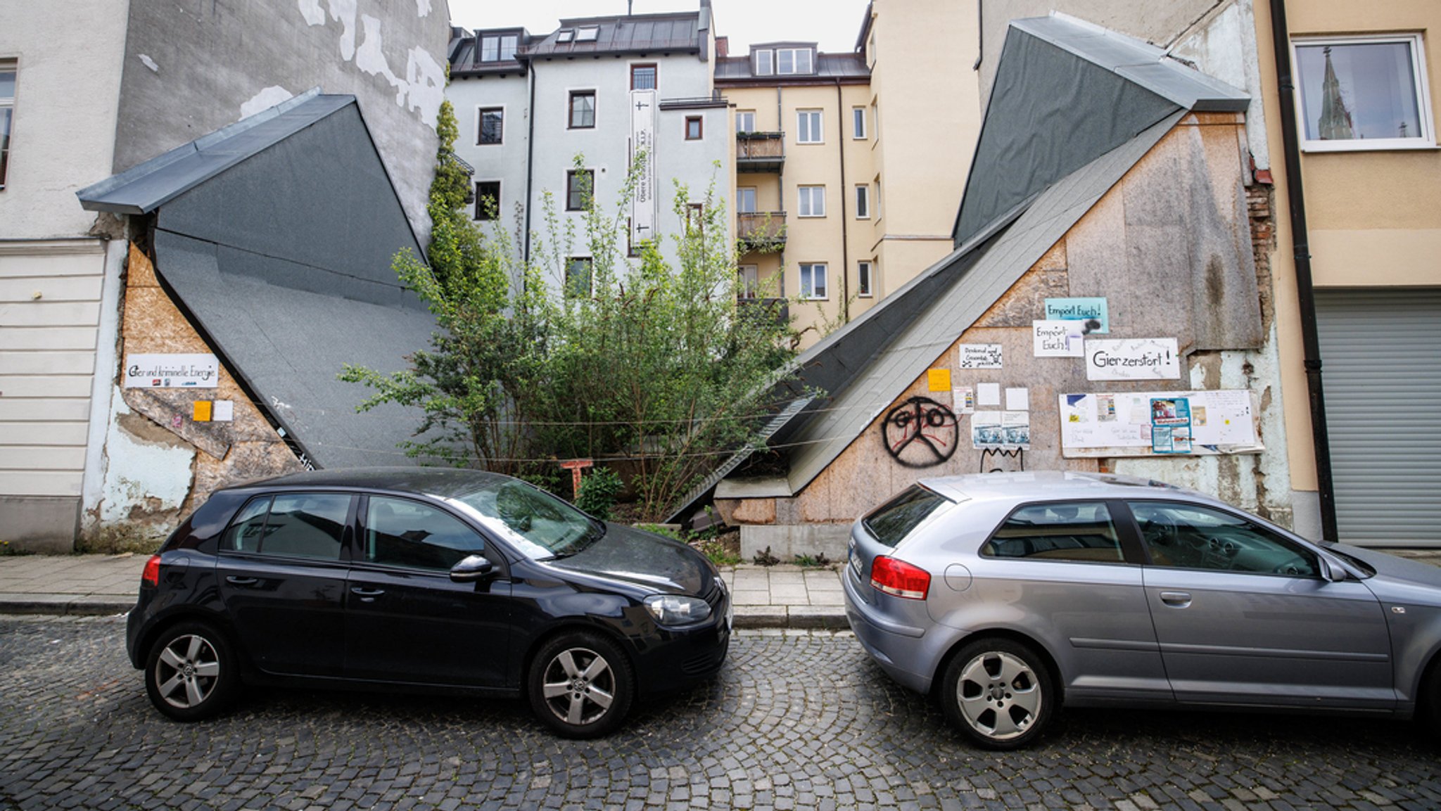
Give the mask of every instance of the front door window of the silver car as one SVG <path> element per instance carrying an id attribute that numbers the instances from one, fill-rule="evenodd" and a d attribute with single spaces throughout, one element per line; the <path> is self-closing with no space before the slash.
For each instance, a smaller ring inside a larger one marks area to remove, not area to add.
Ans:
<path id="1" fill-rule="evenodd" d="M 1153 566 L 1319 576 L 1308 549 L 1242 516 L 1176 501 L 1133 501 Z"/>

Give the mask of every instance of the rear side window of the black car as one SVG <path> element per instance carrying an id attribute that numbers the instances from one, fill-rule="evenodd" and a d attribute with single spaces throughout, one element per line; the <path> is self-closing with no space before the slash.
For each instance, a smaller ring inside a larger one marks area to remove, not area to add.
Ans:
<path id="1" fill-rule="evenodd" d="M 350 496 L 284 493 L 245 504 L 225 530 L 222 549 L 339 560 Z"/>

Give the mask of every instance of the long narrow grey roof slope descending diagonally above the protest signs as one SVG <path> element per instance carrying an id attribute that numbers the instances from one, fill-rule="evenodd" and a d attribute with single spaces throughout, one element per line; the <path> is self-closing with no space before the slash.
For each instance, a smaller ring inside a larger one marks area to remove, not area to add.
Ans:
<path id="1" fill-rule="evenodd" d="M 790 485 L 800 493 L 942 351 L 1180 121 L 1176 112 L 1042 192 L 958 279 L 931 301 L 866 372 L 795 436 Z M 954 254 L 953 254 L 954 256 Z M 955 261 L 955 259 L 953 259 Z"/>

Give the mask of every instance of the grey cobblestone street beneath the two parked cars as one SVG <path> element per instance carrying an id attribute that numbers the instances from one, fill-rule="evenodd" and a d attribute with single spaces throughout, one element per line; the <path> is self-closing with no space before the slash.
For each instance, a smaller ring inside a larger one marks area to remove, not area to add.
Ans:
<path id="1" fill-rule="evenodd" d="M 1411 725 L 1065 713 L 1036 749 L 961 743 L 849 634 L 741 632 L 720 677 L 599 742 L 520 702 L 251 690 L 164 720 L 118 618 L 0 619 L 0 808 L 1437 808 Z"/>

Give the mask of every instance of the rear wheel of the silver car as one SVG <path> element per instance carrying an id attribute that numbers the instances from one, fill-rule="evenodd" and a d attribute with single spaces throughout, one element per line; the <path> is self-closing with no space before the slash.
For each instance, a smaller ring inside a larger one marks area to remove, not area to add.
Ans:
<path id="1" fill-rule="evenodd" d="M 945 716 L 987 749 L 1030 745 L 1055 709 L 1050 673 L 1030 647 L 977 640 L 954 655 L 941 681 Z"/>

